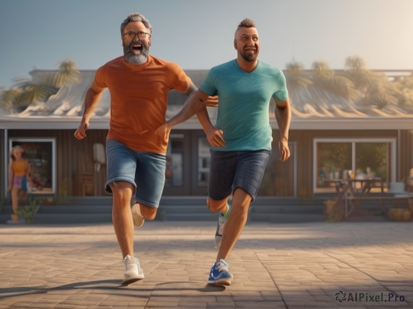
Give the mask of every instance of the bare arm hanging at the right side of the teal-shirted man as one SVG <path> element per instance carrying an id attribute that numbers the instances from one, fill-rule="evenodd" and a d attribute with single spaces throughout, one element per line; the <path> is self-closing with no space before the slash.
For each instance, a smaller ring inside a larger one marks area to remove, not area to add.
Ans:
<path id="1" fill-rule="evenodd" d="M 291 123 L 291 104 L 290 98 L 285 101 L 275 100 L 275 119 L 279 129 L 279 152 L 280 160 L 286 161 L 290 157 L 290 149 L 288 148 L 288 130 Z"/>

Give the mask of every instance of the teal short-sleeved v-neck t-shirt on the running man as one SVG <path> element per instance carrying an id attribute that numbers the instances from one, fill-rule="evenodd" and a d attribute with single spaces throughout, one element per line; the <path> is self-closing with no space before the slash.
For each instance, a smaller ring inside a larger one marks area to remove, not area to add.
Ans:
<path id="1" fill-rule="evenodd" d="M 218 95 L 215 127 L 224 131 L 226 146 L 211 149 L 271 150 L 270 100 L 288 98 L 286 78 L 280 69 L 259 61 L 255 70 L 247 73 L 234 59 L 213 67 L 200 89 Z"/>

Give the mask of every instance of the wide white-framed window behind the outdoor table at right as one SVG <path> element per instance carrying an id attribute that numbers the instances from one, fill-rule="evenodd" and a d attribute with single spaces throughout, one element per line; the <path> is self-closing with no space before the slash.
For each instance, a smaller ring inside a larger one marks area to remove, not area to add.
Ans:
<path id="1" fill-rule="evenodd" d="M 315 139 L 314 151 L 314 192 L 330 192 L 348 171 L 385 184 L 396 179 L 395 139 Z"/>

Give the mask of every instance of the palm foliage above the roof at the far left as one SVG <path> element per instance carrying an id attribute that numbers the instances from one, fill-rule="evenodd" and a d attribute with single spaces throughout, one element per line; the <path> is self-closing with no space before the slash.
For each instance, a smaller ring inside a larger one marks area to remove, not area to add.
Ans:
<path id="1" fill-rule="evenodd" d="M 32 103 L 46 102 L 63 85 L 77 82 L 79 74 L 76 62 L 66 59 L 56 73 L 40 82 L 15 78 L 13 87 L 1 91 L 0 106 L 8 111 L 24 111 Z"/>

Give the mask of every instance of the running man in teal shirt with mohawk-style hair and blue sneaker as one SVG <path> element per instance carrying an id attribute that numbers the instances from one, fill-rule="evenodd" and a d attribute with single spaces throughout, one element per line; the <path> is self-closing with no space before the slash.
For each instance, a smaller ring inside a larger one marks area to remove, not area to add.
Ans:
<path id="1" fill-rule="evenodd" d="M 248 208 L 257 196 L 271 154 L 272 129 L 269 103 L 275 100 L 275 119 L 280 139 L 281 161 L 290 157 L 288 130 L 290 100 L 281 70 L 259 61 L 260 40 L 255 23 L 244 19 L 235 31 L 237 58 L 213 67 L 189 101 L 201 102 L 218 95 L 218 118 L 211 124 L 207 108 L 198 119 L 211 145 L 207 205 L 220 211 L 215 247 L 217 259 L 209 284 L 230 285 L 233 275 L 225 262 L 244 229 Z M 228 204 L 230 196 L 232 206 Z"/>

